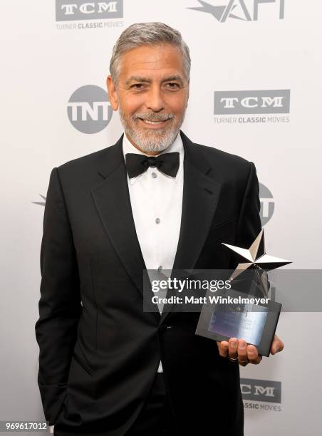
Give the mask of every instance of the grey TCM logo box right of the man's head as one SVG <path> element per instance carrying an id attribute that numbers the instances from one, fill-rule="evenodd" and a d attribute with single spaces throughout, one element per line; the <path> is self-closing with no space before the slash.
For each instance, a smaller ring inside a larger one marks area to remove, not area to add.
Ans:
<path id="1" fill-rule="evenodd" d="M 289 113 L 289 89 L 215 91 L 214 115 Z"/>

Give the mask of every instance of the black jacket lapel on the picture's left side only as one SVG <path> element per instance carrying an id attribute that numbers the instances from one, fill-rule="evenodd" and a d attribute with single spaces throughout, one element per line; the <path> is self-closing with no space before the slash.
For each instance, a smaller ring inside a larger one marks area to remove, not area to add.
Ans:
<path id="1" fill-rule="evenodd" d="M 150 303 L 154 294 L 152 290 L 150 294 L 143 293 L 142 271 L 146 266 L 135 231 L 122 143 L 123 135 L 110 150 L 107 149 L 106 158 L 99 170 L 104 181 L 91 192 L 105 232 L 120 261 L 145 301 Z M 152 313 L 152 316 L 160 320 L 160 313 Z"/>

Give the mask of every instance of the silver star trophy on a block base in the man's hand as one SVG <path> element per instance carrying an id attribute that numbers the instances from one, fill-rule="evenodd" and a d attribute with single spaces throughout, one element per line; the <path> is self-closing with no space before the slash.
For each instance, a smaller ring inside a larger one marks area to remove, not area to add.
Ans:
<path id="1" fill-rule="evenodd" d="M 244 339 L 256 346 L 260 355 L 269 356 L 281 303 L 268 298 L 267 271 L 291 261 L 266 254 L 264 229 L 249 249 L 230 244 L 224 246 L 239 256 L 239 264 L 229 278 L 232 289 L 224 291 L 219 303 L 209 303 L 208 300 L 204 303 L 196 334 L 214 341 Z"/>

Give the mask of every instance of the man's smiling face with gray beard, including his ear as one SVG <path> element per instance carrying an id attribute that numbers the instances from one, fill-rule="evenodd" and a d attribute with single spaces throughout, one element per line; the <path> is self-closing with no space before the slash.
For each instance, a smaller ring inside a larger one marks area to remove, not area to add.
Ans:
<path id="1" fill-rule="evenodd" d="M 139 46 L 120 60 L 118 82 L 108 76 L 113 110 L 130 142 L 143 152 L 158 154 L 175 140 L 185 118 L 189 81 L 182 54 L 168 44 Z"/>

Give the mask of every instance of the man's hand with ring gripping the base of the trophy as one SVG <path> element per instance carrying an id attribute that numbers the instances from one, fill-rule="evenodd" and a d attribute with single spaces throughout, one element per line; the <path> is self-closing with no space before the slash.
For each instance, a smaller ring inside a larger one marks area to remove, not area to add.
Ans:
<path id="1" fill-rule="evenodd" d="M 258 365 L 261 362 L 257 348 L 253 345 L 247 345 L 244 339 L 230 338 L 229 341 L 217 341 L 219 354 L 224 358 L 232 361 L 238 361 L 239 365 L 246 366 L 248 363 Z M 278 336 L 274 336 L 271 344 L 271 354 L 279 353 L 284 348 L 284 343 Z"/>

